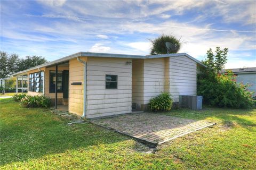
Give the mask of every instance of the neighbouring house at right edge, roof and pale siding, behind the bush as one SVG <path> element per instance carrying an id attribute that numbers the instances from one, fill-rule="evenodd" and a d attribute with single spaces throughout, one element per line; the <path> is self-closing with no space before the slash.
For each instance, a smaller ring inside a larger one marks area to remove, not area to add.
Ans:
<path id="1" fill-rule="evenodd" d="M 231 70 L 236 75 L 236 82 L 249 84 L 249 91 L 254 92 L 253 96 L 256 96 L 256 67 L 247 67 L 239 69 L 226 69 L 221 70 L 220 73 L 227 73 L 228 70 Z"/>

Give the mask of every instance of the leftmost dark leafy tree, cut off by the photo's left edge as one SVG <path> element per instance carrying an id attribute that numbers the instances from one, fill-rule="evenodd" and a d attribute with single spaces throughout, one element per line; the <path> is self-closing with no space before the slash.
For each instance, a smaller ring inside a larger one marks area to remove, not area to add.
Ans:
<path id="1" fill-rule="evenodd" d="M 17 54 L 9 55 L 3 51 L 1 51 L 0 54 L 0 78 L 2 79 L 10 77 L 10 75 L 17 72 L 17 62 L 19 61 L 19 56 Z"/>

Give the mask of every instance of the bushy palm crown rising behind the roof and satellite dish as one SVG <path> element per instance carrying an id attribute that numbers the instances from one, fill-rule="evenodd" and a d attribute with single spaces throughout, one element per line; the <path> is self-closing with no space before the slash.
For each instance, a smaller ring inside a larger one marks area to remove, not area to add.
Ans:
<path id="1" fill-rule="evenodd" d="M 180 39 L 170 35 L 161 35 L 160 37 L 151 40 L 149 39 L 153 45 L 153 47 L 151 48 L 151 55 L 155 55 L 155 54 L 167 54 L 167 48 L 165 46 L 166 42 L 170 42 L 172 44 L 174 44 L 176 46 L 176 50 L 174 52 L 171 53 L 178 53 L 178 51 L 180 50 L 181 47 L 181 41 Z"/>

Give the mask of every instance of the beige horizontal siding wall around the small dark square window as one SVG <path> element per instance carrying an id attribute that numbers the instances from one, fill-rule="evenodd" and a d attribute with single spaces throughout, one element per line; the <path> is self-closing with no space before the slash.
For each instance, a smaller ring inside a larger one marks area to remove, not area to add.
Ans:
<path id="1" fill-rule="evenodd" d="M 89 57 L 86 118 L 131 113 L 132 65 L 129 58 Z M 106 74 L 118 76 L 118 88 L 106 89 Z"/>

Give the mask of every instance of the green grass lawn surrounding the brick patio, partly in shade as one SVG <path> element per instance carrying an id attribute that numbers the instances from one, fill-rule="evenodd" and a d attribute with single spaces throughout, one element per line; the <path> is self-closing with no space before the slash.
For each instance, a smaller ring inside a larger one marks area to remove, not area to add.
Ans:
<path id="1" fill-rule="evenodd" d="M 256 169 L 256 109 L 174 110 L 167 115 L 216 122 L 157 148 L 91 123 L 1 99 L 0 169 Z M 156 122 L 161 123 L 161 122 Z"/>

